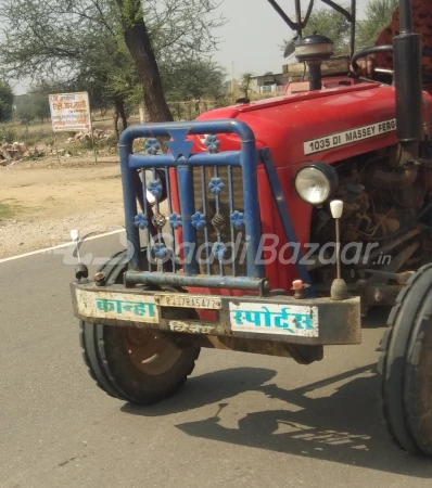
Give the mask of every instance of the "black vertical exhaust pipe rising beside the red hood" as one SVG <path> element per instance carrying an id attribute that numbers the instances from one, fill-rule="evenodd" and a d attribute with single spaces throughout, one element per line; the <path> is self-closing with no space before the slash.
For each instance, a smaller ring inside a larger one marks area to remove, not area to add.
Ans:
<path id="1" fill-rule="evenodd" d="M 393 38 L 397 140 L 412 157 L 423 139 L 420 35 L 412 30 L 411 0 L 399 0 L 399 35 Z"/>

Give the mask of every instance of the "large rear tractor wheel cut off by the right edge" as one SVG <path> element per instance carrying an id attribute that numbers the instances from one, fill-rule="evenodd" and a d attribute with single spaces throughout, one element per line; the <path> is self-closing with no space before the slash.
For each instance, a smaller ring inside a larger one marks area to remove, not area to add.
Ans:
<path id="1" fill-rule="evenodd" d="M 408 452 L 432 455 L 432 265 L 401 292 L 380 361 L 389 431 Z"/>

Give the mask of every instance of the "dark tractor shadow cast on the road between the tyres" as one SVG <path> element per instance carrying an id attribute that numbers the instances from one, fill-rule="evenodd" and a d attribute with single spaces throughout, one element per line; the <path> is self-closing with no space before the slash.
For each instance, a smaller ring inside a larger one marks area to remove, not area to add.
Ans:
<path id="1" fill-rule="evenodd" d="M 194 377 L 169 401 L 147 409 L 126 404 L 123 410 L 156 416 L 215 403 L 214 416 L 177 427 L 194 437 L 431 478 L 430 460 L 406 454 L 390 440 L 374 368 L 376 364 L 358 368 L 293 390 L 265 384 L 276 375 L 275 371 L 237 368 Z M 335 389 L 331 388 L 331 396 L 319 397 L 320 388 L 332 386 Z M 237 428 L 221 425 L 229 398 L 251 390 L 285 402 L 287 409 L 247 413 Z"/>

